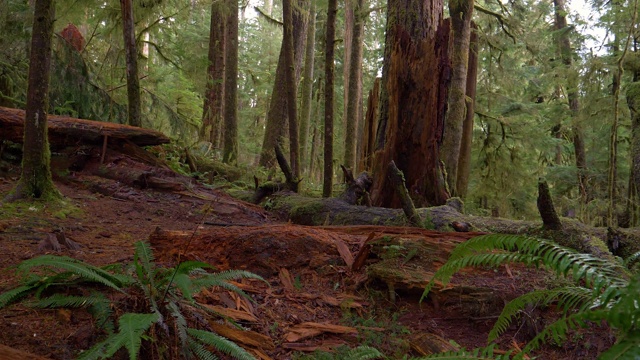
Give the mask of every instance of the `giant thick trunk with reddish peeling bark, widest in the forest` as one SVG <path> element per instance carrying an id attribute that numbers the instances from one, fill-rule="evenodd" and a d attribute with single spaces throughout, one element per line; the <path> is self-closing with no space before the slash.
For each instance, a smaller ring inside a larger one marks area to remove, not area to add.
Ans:
<path id="1" fill-rule="evenodd" d="M 416 206 L 444 204 L 449 197 L 439 157 L 451 72 L 442 10 L 442 1 L 388 3 L 372 190 L 378 206 L 400 206 L 388 190 L 391 160 L 405 174 Z"/>

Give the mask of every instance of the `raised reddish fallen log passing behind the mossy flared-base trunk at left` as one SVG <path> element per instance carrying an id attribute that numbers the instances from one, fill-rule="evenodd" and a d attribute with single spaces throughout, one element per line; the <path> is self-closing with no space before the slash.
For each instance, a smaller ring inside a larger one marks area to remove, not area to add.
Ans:
<path id="1" fill-rule="evenodd" d="M 22 143 L 24 110 L 0 107 L 0 139 Z M 138 146 L 167 144 L 170 139 L 159 131 L 109 122 L 48 115 L 49 143 L 54 148 L 76 144 L 101 145 L 109 141 L 128 140 Z"/>

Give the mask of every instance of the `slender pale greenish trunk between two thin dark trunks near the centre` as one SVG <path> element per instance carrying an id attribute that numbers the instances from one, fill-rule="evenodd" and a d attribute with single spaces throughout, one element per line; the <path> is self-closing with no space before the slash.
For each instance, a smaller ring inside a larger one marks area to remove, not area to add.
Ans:
<path id="1" fill-rule="evenodd" d="M 311 104 L 313 103 L 313 67 L 316 50 L 316 2 L 311 1 L 309 8 L 309 26 L 305 45 L 305 61 L 302 76 L 302 106 L 300 111 L 300 170 L 309 169 L 308 154 L 309 124 L 311 123 Z"/>

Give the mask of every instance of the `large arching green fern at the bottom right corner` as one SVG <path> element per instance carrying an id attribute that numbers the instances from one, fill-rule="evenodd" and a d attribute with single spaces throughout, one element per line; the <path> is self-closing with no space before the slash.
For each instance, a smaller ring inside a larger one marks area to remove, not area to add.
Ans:
<path id="1" fill-rule="evenodd" d="M 434 274 L 423 298 L 436 281 L 446 285 L 462 268 L 498 266 L 512 262 L 544 266 L 558 275 L 569 277 L 575 285 L 536 290 L 511 300 L 489 333 L 489 342 L 495 341 L 505 332 L 526 306 L 553 303 L 563 310 L 562 316 L 539 332 L 519 357 L 543 343 L 563 342 L 571 330 L 582 327 L 587 322 L 598 323 L 603 320 L 618 329 L 619 338 L 618 343 L 601 354 L 600 358 L 631 359 L 636 356 L 637 347 L 640 346 L 640 305 L 637 303 L 640 296 L 640 274 L 629 279 L 625 268 L 616 262 L 580 254 L 547 240 L 493 234 L 462 243 L 454 249 L 449 261 Z"/>

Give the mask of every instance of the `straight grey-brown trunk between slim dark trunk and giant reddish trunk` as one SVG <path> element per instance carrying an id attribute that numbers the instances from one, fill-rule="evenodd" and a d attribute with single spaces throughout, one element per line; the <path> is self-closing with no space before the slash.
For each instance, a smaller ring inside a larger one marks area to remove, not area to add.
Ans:
<path id="1" fill-rule="evenodd" d="M 360 102 L 362 101 L 362 50 L 364 38 L 364 0 L 352 0 L 350 7 L 353 7 L 354 23 L 351 36 L 351 53 L 345 54 L 349 57 L 349 91 L 346 97 L 347 111 L 344 117 L 346 123 L 346 133 L 344 142 L 344 165 L 350 169 L 356 167 L 356 144 L 358 142 L 357 129 L 360 120 Z"/>

